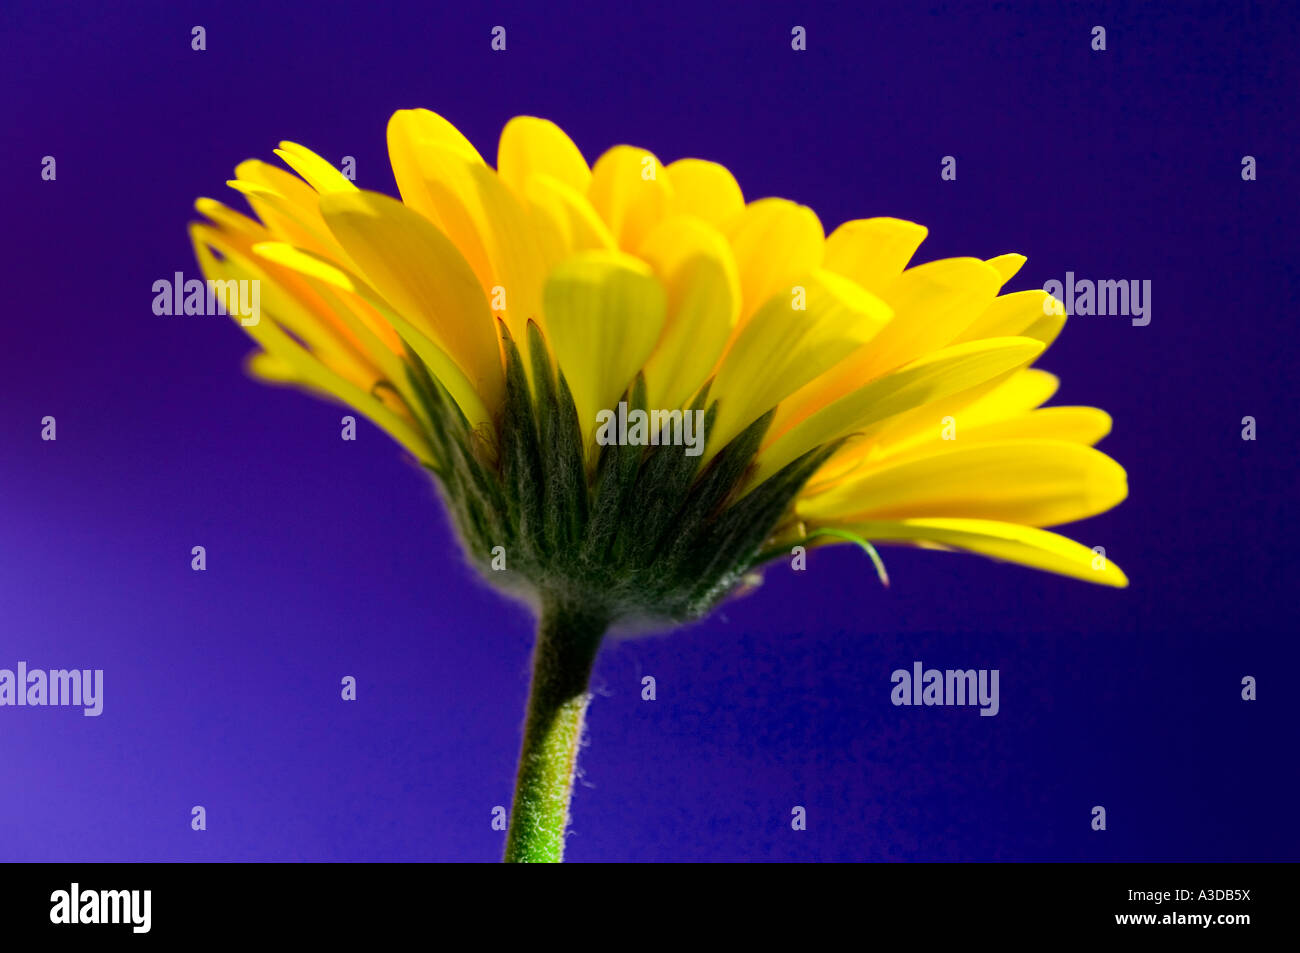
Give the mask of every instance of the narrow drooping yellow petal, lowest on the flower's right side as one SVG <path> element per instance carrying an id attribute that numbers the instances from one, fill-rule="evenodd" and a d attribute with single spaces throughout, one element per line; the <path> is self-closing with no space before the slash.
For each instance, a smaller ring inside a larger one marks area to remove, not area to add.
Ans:
<path id="1" fill-rule="evenodd" d="M 909 519 L 842 525 L 880 543 L 979 553 L 992 559 L 1123 589 L 1128 579 L 1113 562 L 1057 533 L 994 520 Z"/>

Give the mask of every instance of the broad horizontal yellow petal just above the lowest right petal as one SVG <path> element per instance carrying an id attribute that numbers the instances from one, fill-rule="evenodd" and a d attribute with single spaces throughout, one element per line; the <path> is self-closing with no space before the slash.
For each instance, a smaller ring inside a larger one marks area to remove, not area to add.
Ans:
<path id="1" fill-rule="evenodd" d="M 802 499 L 812 521 L 985 519 L 1053 527 L 1112 508 L 1126 495 L 1123 468 L 1079 443 L 1009 439 L 963 446 L 855 473 Z"/>

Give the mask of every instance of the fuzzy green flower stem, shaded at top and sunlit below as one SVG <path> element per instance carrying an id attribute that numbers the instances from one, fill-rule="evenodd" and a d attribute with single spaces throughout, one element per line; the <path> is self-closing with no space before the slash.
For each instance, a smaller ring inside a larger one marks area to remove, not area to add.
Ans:
<path id="1" fill-rule="evenodd" d="M 607 625 L 603 614 L 572 602 L 542 605 L 507 863 L 559 863 L 564 857 L 573 767 L 590 698 L 586 685 Z"/>

